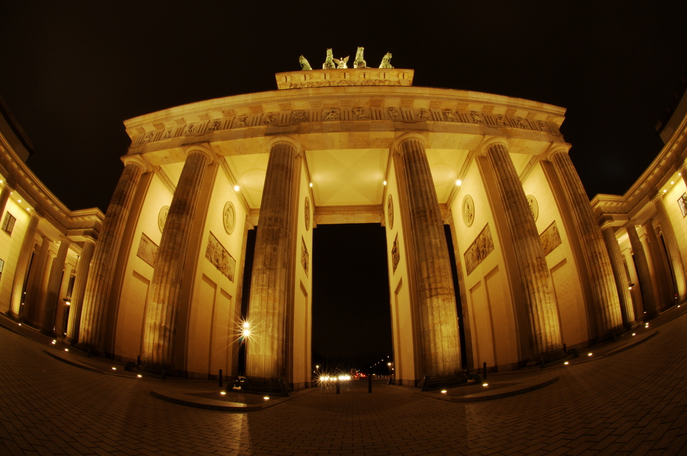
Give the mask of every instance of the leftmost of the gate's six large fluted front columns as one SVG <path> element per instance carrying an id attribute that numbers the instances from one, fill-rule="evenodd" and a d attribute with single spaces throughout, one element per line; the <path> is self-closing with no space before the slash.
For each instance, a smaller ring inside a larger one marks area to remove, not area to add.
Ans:
<path id="1" fill-rule="evenodd" d="M 79 344 L 98 352 L 102 352 L 104 345 L 104 321 L 122 234 L 141 175 L 146 171 L 146 164 L 138 157 L 126 156 L 122 160 L 124 171 L 107 207 L 98 243 L 95 244 L 81 308 Z"/>

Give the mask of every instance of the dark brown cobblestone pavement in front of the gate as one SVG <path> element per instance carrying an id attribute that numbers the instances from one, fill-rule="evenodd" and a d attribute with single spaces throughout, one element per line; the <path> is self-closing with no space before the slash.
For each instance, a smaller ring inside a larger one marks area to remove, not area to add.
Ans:
<path id="1" fill-rule="evenodd" d="M 0 455 L 685 455 L 687 317 L 652 330 L 510 398 L 354 383 L 227 413 L 158 400 L 153 381 L 78 369 L 0 328 Z"/>

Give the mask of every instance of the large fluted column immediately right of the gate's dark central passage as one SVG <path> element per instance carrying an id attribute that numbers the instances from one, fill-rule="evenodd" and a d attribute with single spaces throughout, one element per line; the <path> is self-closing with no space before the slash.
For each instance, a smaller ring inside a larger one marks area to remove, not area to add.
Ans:
<path id="1" fill-rule="evenodd" d="M 460 337 L 449 249 L 439 201 L 424 139 L 402 139 L 398 150 L 403 162 L 409 235 L 413 245 L 412 267 L 420 316 L 423 374 L 449 376 L 461 368 Z"/>

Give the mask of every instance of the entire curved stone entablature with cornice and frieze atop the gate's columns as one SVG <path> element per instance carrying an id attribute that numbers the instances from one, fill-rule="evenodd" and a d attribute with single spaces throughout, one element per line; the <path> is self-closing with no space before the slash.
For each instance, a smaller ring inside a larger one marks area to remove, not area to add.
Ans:
<path id="1" fill-rule="evenodd" d="M 131 146 L 213 141 L 229 134 L 293 134 L 302 126 L 368 124 L 371 130 L 407 124 L 471 126 L 478 134 L 538 133 L 562 141 L 565 109 L 488 93 L 425 87 L 324 87 L 282 90 L 207 100 L 124 122 Z M 326 127 L 325 127 L 326 126 Z M 414 128 L 417 128 L 415 126 Z M 202 139 L 201 139 L 202 138 Z M 231 138 L 229 138 L 231 139 Z"/>

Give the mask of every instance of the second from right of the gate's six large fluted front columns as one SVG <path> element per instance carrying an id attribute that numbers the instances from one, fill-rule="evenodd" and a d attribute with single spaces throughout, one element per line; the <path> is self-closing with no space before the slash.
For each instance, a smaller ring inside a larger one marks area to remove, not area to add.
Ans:
<path id="1" fill-rule="evenodd" d="M 537 225 L 506 145 L 502 142 L 488 144 L 485 155 L 496 176 L 517 257 L 530 323 L 532 356 L 555 356 L 563 349 L 561 326 Z"/>

